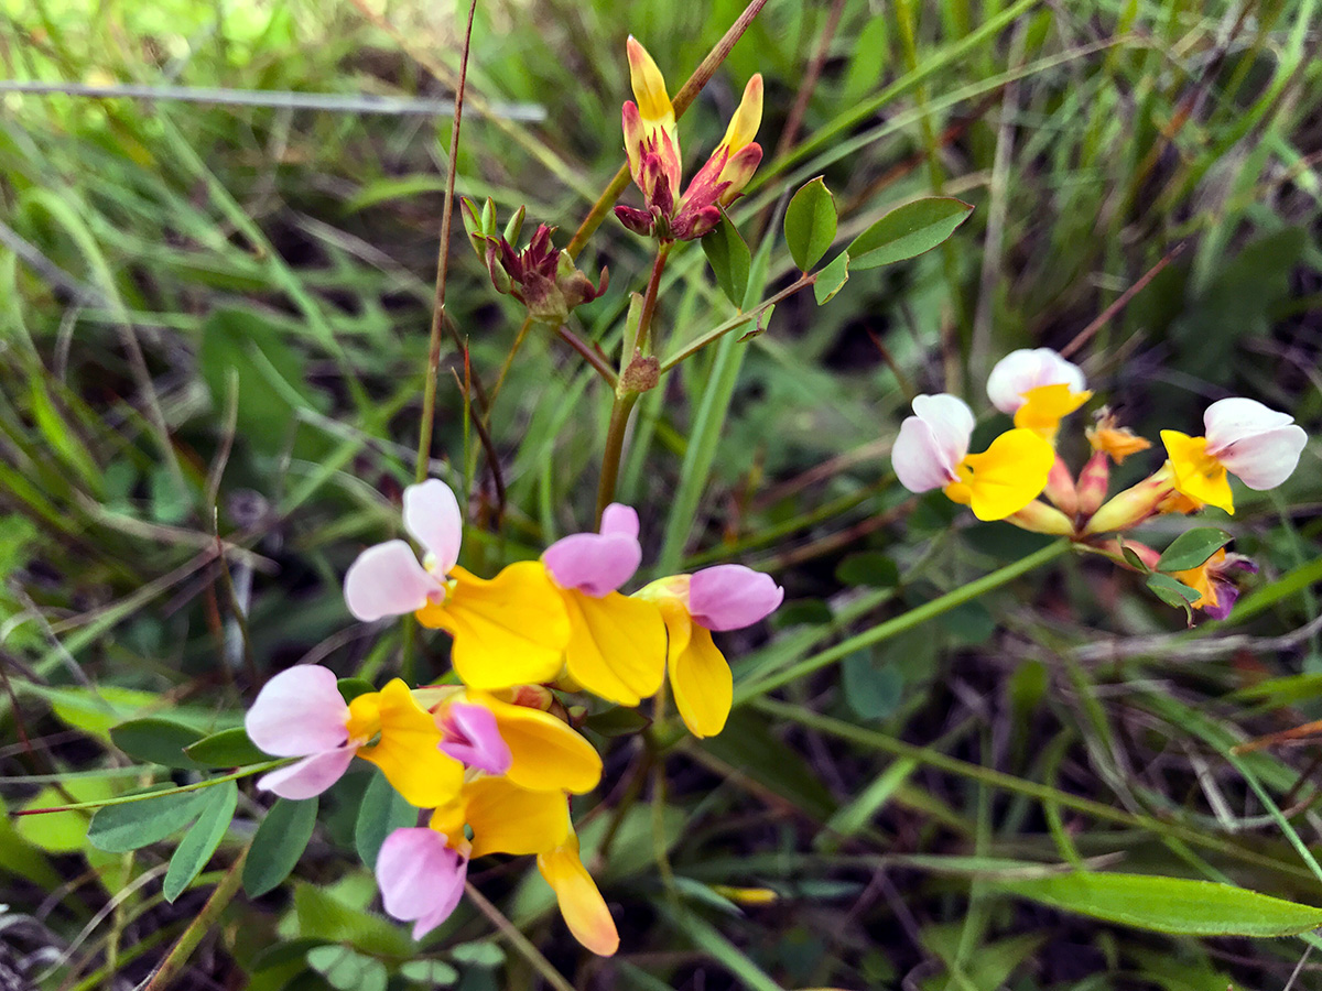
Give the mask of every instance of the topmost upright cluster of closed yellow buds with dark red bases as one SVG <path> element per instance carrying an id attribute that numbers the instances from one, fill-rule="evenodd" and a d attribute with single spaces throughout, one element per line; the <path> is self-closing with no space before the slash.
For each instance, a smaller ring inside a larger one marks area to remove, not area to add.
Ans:
<path id="1" fill-rule="evenodd" d="M 681 196 L 680 133 L 665 77 L 632 36 L 628 55 L 637 103 L 624 103 L 624 151 L 645 209 L 616 206 L 615 215 L 636 234 L 660 240 L 701 238 L 720 222 L 720 207 L 739 197 L 761 161 L 761 145 L 752 140 L 761 123 L 761 75 L 748 81 L 726 136 Z"/>

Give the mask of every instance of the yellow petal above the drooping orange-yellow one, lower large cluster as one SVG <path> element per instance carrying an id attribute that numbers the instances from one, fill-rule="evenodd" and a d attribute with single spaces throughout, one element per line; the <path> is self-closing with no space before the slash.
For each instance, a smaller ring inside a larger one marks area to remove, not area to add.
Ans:
<path id="1" fill-rule="evenodd" d="M 563 791 L 529 791 L 506 778 L 464 785 L 465 819 L 473 827 L 473 856 L 546 854 L 570 835 Z"/>

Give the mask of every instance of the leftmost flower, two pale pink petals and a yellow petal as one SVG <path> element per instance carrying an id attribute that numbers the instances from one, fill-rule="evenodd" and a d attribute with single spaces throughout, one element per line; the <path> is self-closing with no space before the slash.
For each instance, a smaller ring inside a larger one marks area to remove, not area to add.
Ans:
<path id="1" fill-rule="evenodd" d="M 340 780 L 354 757 L 375 764 L 401 795 L 431 809 L 457 794 L 463 764 L 443 753 L 430 712 L 401 679 L 345 702 L 333 671 L 291 667 L 263 686 L 245 719 L 249 737 L 275 757 L 301 757 L 258 788 L 311 798 Z"/>

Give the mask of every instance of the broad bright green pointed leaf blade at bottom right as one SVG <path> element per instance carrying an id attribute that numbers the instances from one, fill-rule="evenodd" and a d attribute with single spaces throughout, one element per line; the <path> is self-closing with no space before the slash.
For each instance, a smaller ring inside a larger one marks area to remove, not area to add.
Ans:
<path id="1" fill-rule="evenodd" d="M 1071 872 L 990 887 L 1108 922 L 1178 936 L 1294 936 L 1322 925 L 1322 909 L 1229 884 L 1133 873 Z"/>

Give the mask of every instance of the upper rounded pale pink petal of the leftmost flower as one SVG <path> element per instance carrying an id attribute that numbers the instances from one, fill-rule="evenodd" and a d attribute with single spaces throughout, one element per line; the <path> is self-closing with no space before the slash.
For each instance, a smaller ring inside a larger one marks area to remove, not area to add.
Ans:
<path id="1" fill-rule="evenodd" d="M 334 671 L 300 665 L 280 671 L 258 692 L 243 719 L 249 739 L 274 757 L 303 757 L 349 741 L 345 704 Z"/>

